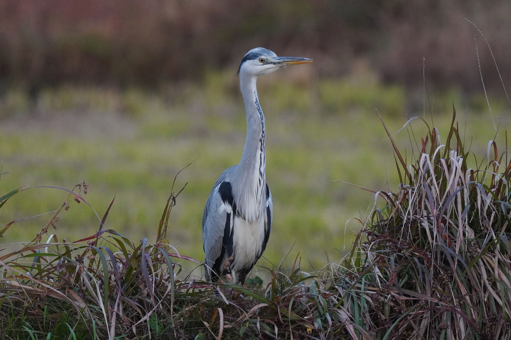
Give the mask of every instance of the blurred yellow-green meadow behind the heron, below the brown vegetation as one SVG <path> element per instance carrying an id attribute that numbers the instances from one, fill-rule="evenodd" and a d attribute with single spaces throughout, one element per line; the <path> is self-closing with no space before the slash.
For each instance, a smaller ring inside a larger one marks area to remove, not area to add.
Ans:
<path id="1" fill-rule="evenodd" d="M 258 264 L 269 267 L 282 261 L 291 266 L 298 257 L 303 268 L 319 270 L 339 260 L 373 208 L 375 191 L 398 189 L 396 160 L 378 112 L 401 150 L 412 150 L 407 146 L 432 122 L 448 129 L 453 105 L 464 144 L 478 155 L 490 140 L 504 143 L 511 123 L 506 106 L 493 98 L 489 107 L 484 95 L 412 93 L 381 84 L 370 72 L 338 80 L 289 68 L 258 85 L 274 198 L 272 233 Z M 407 124 L 412 117 L 423 119 Z M 172 209 L 167 239 L 180 254 L 202 259 L 202 209 L 218 175 L 238 163 L 245 127 L 233 70 L 153 91 L 61 86 L 43 89 L 36 101 L 10 89 L 0 102 L 0 196 L 32 188 L 0 210 L 0 230 L 17 221 L 5 231 L 2 248 L 33 239 L 67 196 L 38 186 L 71 190 L 88 183 L 83 197 L 99 218 L 86 204 L 72 202 L 48 231 L 59 241 L 94 234 L 114 200 L 104 228 L 137 242 L 154 241 L 167 199 L 186 185 Z"/>

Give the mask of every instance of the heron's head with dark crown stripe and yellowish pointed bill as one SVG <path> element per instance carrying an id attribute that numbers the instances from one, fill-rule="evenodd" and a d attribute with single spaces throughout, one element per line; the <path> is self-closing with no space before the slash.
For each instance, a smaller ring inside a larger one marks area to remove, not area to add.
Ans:
<path id="1" fill-rule="evenodd" d="M 267 75 L 287 65 L 311 63 L 313 60 L 301 57 L 277 57 L 263 47 L 253 48 L 241 60 L 238 75 L 261 76 Z"/>

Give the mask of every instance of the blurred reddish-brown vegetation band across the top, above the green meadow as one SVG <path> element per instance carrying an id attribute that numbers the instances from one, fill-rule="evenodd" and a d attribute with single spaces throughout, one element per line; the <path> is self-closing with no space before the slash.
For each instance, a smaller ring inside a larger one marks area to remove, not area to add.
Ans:
<path id="1" fill-rule="evenodd" d="M 385 81 L 422 88 L 480 90 L 511 76 L 511 4 L 476 1 L 0 0 L 1 84 L 37 88 L 65 82 L 158 86 L 237 63 L 249 48 L 320 60 L 340 76 L 360 58 Z M 474 40 L 475 38 L 475 40 Z M 505 82 L 505 81 L 504 81 Z"/>

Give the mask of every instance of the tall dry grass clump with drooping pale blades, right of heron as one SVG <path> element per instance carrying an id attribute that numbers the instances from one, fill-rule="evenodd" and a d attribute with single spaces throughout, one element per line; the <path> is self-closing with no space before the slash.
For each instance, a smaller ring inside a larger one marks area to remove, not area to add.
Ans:
<path id="1" fill-rule="evenodd" d="M 339 271 L 342 305 L 375 338 L 508 338 L 507 148 L 471 155 L 455 113 L 445 144 L 432 128 L 419 148 L 408 166 L 394 146 L 402 184 L 377 193 L 384 206 Z"/>

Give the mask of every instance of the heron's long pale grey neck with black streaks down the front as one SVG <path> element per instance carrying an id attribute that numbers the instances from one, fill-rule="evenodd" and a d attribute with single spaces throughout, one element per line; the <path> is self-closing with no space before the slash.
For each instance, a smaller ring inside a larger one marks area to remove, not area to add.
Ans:
<path id="1" fill-rule="evenodd" d="M 247 139 L 237 167 L 238 210 L 247 221 L 254 221 L 264 211 L 266 189 L 266 153 L 264 115 L 255 83 L 257 77 L 240 75 L 241 93 L 247 117 Z"/>

